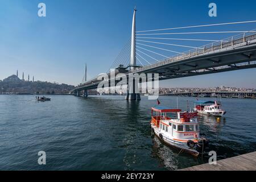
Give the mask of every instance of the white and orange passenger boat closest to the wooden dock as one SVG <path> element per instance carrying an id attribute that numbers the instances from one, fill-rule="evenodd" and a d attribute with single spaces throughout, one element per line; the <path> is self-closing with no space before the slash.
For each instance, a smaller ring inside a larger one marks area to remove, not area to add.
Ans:
<path id="1" fill-rule="evenodd" d="M 164 106 L 151 108 L 152 132 L 168 146 L 198 156 L 208 140 L 200 138 L 196 112 L 182 112 Z"/>

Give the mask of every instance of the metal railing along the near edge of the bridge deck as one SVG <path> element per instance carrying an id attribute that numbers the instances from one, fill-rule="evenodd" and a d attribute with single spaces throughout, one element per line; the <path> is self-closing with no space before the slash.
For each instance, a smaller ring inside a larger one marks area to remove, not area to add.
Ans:
<path id="1" fill-rule="evenodd" d="M 255 31 L 254 30 L 248 31 L 243 34 L 232 36 L 230 38 L 226 38 L 221 41 L 217 41 L 217 42 L 210 43 L 210 44 L 207 44 L 207 45 L 199 47 L 199 48 L 195 48 L 195 49 L 191 49 L 189 51 L 183 52 L 183 53 L 179 53 L 175 56 L 170 57 L 169 59 L 164 59 L 163 61 L 160 61 L 155 64 L 147 65 L 147 66 L 144 66 L 141 68 L 135 68 L 133 71 L 130 71 L 129 73 L 142 72 L 147 69 L 156 68 L 161 65 L 174 63 L 176 61 L 190 59 L 193 57 L 207 55 L 210 53 L 225 51 L 225 50 L 228 50 L 235 46 L 238 46 L 240 44 L 249 43 L 251 40 L 255 40 L 255 39 L 256 39 Z"/>

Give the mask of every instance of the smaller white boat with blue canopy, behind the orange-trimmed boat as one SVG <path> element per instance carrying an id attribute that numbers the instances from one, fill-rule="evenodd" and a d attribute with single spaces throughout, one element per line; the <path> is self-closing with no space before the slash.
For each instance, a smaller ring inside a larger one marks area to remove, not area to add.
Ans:
<path id="1" fill-rule="evenodd" d="M 222 117 L 226 111 L 221 109 L 221 105 L 217 101 L 195 101 L 195 111 L 199 114 L 213 115 Z"/>

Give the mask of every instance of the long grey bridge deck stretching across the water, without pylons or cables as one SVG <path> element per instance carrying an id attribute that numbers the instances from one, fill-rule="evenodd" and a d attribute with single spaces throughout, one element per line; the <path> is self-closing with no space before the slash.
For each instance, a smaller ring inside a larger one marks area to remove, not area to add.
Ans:
<path id="1" fill-rule="evenodd" d="M 247 32 L 221 42 L 170 57 L 155 64 L 135 68 L 129 73 L 158 73 L 159 80 L 198 76 L 239 69 L 256 68 L 256 34 Z M 109 73 L 110 74 L 110 73 Z M 101 80 L 92 78 L 77 86 L 71 93 L 84 89 L 96 89 Z"/>

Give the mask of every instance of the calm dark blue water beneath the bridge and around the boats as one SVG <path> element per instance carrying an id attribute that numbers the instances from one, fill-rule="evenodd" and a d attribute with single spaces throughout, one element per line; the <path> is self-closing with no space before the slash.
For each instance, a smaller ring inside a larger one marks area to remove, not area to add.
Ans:
<path id="1" fill-rule="evenodd" d="M 0 95 L 0 169 L 5 170 L 173 170 L 206 163 L 179 154 L 151 138 L 150 108 L 156 101 L 126 101 L 123 96 Z M 176 97 L 160 97 L 161 105 L 176 107 Z M 187 100 L 179 97 L 186 109 Z M 218 159 L 256 151 L 256 100 L 222 99 L 227 114 L 221 121 L 199 117 L 201 133 Z M 47 164 L 38 165 L 46 151 Z"/>

